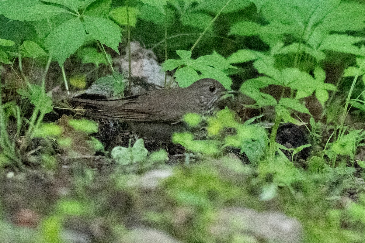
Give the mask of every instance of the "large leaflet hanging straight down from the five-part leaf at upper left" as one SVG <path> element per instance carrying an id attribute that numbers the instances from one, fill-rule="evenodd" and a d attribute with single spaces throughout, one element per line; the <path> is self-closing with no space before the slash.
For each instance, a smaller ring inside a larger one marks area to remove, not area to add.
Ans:
<path id="1" fill-rule="evenodd" d="M 45 47 L 63 65 L 85 41 L 84 24 L 78 18 L 70 19 L 55 28 L 45 39 Z"/>

